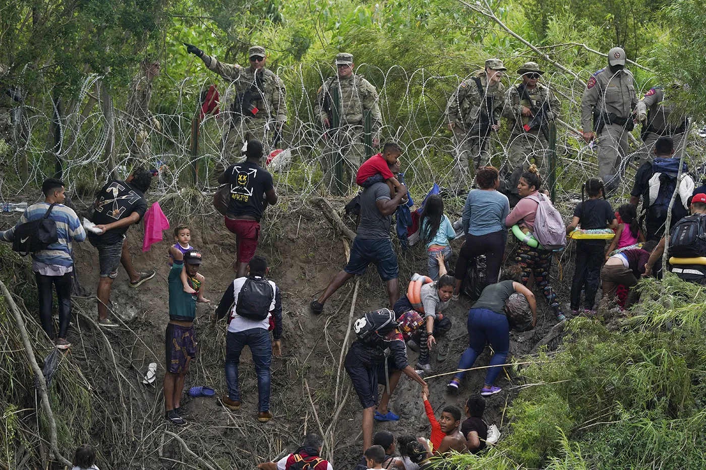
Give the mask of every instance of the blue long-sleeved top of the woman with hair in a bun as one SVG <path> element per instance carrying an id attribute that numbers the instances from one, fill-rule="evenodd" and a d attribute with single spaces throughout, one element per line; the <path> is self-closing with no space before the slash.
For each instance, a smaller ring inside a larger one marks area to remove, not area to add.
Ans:
<path id="1" fill-rule="evenodd" d="M 510 214 L 508 196 L 498 191 L 474 189 L 463 206 L 463 231 L 475 236 L 507 229 L 505 217 Z"/>

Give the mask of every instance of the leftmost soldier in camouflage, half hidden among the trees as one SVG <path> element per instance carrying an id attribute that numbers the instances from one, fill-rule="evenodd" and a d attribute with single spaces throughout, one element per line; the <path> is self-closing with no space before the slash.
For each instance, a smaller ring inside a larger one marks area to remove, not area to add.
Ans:
<path id="1" fill-rule="evenodd" d="M 160 63 L 145 60 L 140 64 L 140 73 L 133 78 L 130 87 L 126 110 L 132 126 L 128 131 L 131 135 L 129 152 L 130 158 L 139 162 L 146 162 L 150 157 L 150 131 L 162 132 L 160 121 L 150 112 L 152 80 L 159 74 Z"/>

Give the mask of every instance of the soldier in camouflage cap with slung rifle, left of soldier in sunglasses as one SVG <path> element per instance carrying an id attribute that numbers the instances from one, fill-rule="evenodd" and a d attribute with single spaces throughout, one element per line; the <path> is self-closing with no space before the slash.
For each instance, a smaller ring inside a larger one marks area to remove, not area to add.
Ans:
<path id="1" fill-rule="evenodd" d="M 456 163 L 453 168 L 453 186 L 460 188 L 462 181 L 469 178 L 469 161 L 473 162 L 473 173 L 481 163 L 490 159 L 486 150 L 489 137 L 474 136 L 474 126 L 479 123 L 481 114 L 486 114 L 492 131 L 500 128 L 500 117 L 505 103 L 505 86 L 501 83 L 507 70 L 500 59 L 485 61 L 485 69 L 474 73 L 470 80 L 463 80 L 451 95 L 446 107 L 448 128 L 453 132 L 456 145 Z M 486 109 L 486 99 L 493 98 L 493 109 Z"/>

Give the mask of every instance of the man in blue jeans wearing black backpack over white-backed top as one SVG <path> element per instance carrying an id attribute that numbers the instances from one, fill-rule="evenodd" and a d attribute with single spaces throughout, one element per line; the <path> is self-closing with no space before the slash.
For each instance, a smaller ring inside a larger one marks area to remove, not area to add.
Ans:
<path id="1" fill-rule="evenodd" d="M 245 277 L 238 277 L 226 289 L 218 307 L 218 320 L 230 313 L 226 335 L 225 378 L 228 394 L 221 398 L 223 404 L 233 411 L 240 409 L 238 388 L 238 365 L 240 353 L 246 346 L 253 355 L 255 373 L 258 375 L 258 421 L 272 419 L 270 412 L 270 365 L 272 355 L 282 355 L 282 299 L 275 282 L 265 279 L 268 263 L 263 256 L 256 256 L 248 264 Z M 263 306 L 263 315 L 253 311 Z M 241 303 L 239 307 L 238 304 Z M 246 316 L 245 316 L 246 315 Z M 247 317 L 247 318 L 246 318 Z M 274 320 L 274 321 L 271 321 Z M 270 343 L 270 325 L 274 323 L 273 340 Z"/>

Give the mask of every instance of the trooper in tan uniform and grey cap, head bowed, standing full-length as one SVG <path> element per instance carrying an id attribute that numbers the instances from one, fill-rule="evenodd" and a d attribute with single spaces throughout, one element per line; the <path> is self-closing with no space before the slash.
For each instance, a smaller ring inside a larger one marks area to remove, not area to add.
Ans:
<path id="1" fill-rule="evenodd" d="M 611 49 L 608 67 L 591 76 L 581 97 L 583 139 L 587 143 L 597 139 L 598 174 L 608 189 L 618 186 L 621 159 L 628 153 L 628 132 L 635 127 L 632 112 L 638 97 L 633 74 L 625 69 L 625 62 L 621 47 Z"/>

